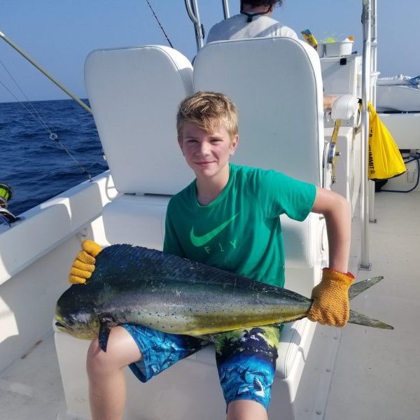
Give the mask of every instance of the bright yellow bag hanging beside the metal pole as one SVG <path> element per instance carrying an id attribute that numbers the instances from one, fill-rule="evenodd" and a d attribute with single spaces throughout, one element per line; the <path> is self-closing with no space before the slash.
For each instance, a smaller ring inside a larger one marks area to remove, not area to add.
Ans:
<path id="1" fill-rule="evenodd" d="M 407 171 L 391 133 L 369 102 L 369 179 L 388 179 Z"/>

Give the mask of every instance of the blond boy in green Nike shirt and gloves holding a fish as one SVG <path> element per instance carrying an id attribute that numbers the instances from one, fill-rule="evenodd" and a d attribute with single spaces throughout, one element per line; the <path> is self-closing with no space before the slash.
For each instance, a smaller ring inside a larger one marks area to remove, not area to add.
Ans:
<path id="1" fill-rule="evenodd" d="M 283 286 L 279 215 L 303 221 L 310 211 L 321 213 L 328 230 L 330 268 L 323 270 L 323 279 L 313 290 L 308 317 L 344 325 L 349 318 L 347 291 L 353 281 L 347 273 L 351 212 L 346 200 L 278 172 L 230 164 L 239 141 L 237 110 L 223 94 L 197 92 L 181 102 L 177 131 L 196 179 L 169 202 L 164 252 Z M 71 282 L 84 281 L 90 276 L 84 275 L 84 269 L 94 269 L 100 247 L 87 242 L 84 248 L 87 252 L 80 253 L 74 265 L 82 271 L 73 268 Z M 269 326 L 227 332 L 216 339 L 228 419 L 267 419 L 279 334 L 279 327 Z M 146 381 L 204 345 L 195 337 L 140 325 L 113 328 L 106 353 L 95 340 L 87 356 L 93 419 L 122 418 L 123 367 L 130 365 Z"/>

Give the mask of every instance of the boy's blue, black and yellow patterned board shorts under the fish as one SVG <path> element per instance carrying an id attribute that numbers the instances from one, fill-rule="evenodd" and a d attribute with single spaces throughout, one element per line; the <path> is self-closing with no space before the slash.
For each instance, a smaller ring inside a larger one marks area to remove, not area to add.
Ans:
<path id="1" fill-rule="evenodd" d="M 189 335 L 169 334 L 141 325 L 123 327 L 143 354 L 139 362 L 130 365 L 142 382 L 209 345 L 209 341 Z M 253 400 L 268 408 L 280 330 L 277 326 L 265 326 L 214 336 L 216 365 L 226 405 L 233 400 Z"/>

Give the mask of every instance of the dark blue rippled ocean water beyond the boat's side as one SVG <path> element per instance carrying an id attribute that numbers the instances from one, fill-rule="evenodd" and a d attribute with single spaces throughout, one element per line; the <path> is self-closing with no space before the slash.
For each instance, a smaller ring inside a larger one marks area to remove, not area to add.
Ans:
<path id="1" fill-rule="evenodd" d="M 72 99 L 32 104 L 87 172 L 94 176 L 108 169 L 90 113 Z M 25 106 L 35 114 L 28 103 Z M 0 183 L 14 190 L 8 209 L 15 215 L 88 179 L 19 102 L 0 103 L 0 141 Z"/>

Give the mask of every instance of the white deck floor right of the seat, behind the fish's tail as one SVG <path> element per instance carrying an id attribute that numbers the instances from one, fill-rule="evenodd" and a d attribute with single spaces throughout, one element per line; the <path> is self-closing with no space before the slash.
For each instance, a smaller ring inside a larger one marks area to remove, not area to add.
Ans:
<path id="1" fill-rule="evenodd" d="M 351 307 L 395 330 L 342 330 L 325 420 L 420 419 L 420 194 L 377 193 L 375 204 L 372 270 L 358 280 L 384 279 Z"/>

